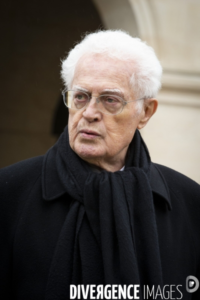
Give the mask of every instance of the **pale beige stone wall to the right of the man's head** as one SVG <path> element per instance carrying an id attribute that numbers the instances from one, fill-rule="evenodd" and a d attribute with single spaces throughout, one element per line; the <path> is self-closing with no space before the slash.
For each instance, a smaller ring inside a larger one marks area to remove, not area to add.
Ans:
<path id="1" fill-rule="evenodd" d="M 151 45 L 163 66 L 159 106 L 141 130 L 153 161 L 200 183 L 200 2 L 93 0 L 106 28 Z"/>

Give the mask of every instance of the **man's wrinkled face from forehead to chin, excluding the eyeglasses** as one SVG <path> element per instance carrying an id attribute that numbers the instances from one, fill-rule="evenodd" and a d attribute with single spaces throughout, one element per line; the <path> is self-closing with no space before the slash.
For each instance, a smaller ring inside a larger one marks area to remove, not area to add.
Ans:
<path id="1" fill-rule="evenodd" d="M 86 89 L 89 96 L 96 97 L 107 93 L 104 92 L 106 89 L 118 89 L 124 100 L 134 100 L 129 86 L 131 70 L 127 61 L 84 55 L 76 65 L 71 88 Z M 130 102 L 123 106 L 121 113 L 108 115 L 98 109 L 96 99 L 91 97 L 86 108 L 69 108 L 71 148 L 82 159 L 97 166 L 103 167 L 102 162 L 120 164 L 120 161 L 123 166 L 128 145 L 141 119 L 141 114 L 136 114 L 135 105 L 136 102 Z"/>

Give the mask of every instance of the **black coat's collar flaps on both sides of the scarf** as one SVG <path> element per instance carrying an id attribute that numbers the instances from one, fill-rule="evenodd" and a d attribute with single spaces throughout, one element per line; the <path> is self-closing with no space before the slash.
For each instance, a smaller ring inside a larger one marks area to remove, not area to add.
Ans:
<path id="1" fill-rule="evenodd" d="M 56 151 L 53 147 L 51 147 L 43 158 L 41 179 L 42 197 L 46 201 L 54 200 L 66 192 L 57 173 L 55 155 Z M 162 173 L 153 162 L 151 162 L 150 165 L 150 186 L 152 193 L 157 194 L 160 199 L 164 200 L 167 204 L 168 210 L 171 210 L 171 201 L 167 183 Z"/>

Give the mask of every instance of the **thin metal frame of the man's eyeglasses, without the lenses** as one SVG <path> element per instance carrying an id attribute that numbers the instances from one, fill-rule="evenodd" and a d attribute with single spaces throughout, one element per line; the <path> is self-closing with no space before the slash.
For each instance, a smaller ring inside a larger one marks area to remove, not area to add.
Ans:
<path id="1" fill-rule="evenodd" d="M 87 95 L 87 97 L 88 97 L 88 100 L 87 100 L 86 105 L 85 105 L 84 107 L 82 107 L 82 108 L 71 108 L 71 107 L 68 107 L 68 106 L 66 105 L 65 101 L 64 101 L 64 93 L 67 92 L 67 91 L 69 91 L 69 90 L 72 90 L 72 91 L 77 90 L 77 91 L 80 91 L 80 92 L 85 93 L 85 94 Z M 66 107 L 68 107 L 68 108 L 70 108 L 70 109 L 74 109 L 74 110 L 81 110 L 81 109 L 84 109 L 85 107 L 87 107 L 87 104 L 89 103 L 91 97 L 96 98 L 96 104 L 97 104 L 97 107 L 98 107 L 98 102 L 97 102 L 97 100 L 98 100 L 98 98 L 101 97 L 101 96 L 113 96 L 113 97 L 118 97 L 118 98 L 120 98 L 121 101 L 122 101 L 122 109 L 121 109 L 121 111 L 123 110 L 123 106 L 126 105 L 126 104 L 129 103 L 129 102 L 134 102 L 134 101 L 137 101 L 137 100 L 142 100 L 142 99 L 148 99 L 148 98 L 149 98 L 149 97 L 143 97 L 143 98 L 139 98 L 139 99 L 136 99 L 136 100 L 125 101 L 125 100 L 123 100 L 121 97 L 119 97 L 119 96 L 117 96 L 117 95 L 111 95 L 111 94 L 103 94 L 103 95 L 99 95 L 98 97 L 92 96 L 92 95 L 89 96 L 85 91 L 82 91 L 82 90 L 79 90 L 79 89 L 66 89 L 66 90 L 63 90 L 63 91 L 62 91 L 62 95 L 63 95 L 64 105 L 65 105 Z M 102 110 L 100 110 L 99 107 L 98 107 L 98 110 L 99 110 L 100 112 L 104 113 L 104 114 L 109 114 L 109 115 L 116 115 L 116 114 L 121 113 L 121 111 L 118 112 L 118 113 L 106 113 L 106 112 L 103 112 Z"/>

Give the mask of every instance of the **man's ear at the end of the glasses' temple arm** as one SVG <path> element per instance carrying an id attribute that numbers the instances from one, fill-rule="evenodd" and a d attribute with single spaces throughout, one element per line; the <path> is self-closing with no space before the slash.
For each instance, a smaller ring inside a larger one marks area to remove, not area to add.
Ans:
<path id="1" fill-rule="evenodd" d="M 155 113 L 157 105 L 158 101 L 155 98 L 147 98 L 144 101 L 142 112 L 140 114 L 140 121 L 137 125 L 138 129 L 141 129 L 145 126 L 150 117 Z"/>

